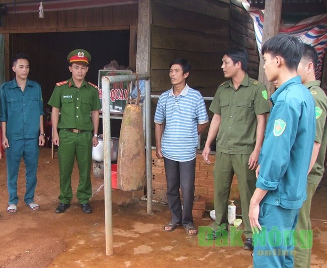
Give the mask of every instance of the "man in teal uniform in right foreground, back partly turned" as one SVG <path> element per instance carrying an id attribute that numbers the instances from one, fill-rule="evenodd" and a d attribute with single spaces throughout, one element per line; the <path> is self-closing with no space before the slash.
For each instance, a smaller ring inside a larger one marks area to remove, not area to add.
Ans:
<path id="1" fill-rule="evenodd" d="M 293 267 L 293 232 L 306 198 L 306 180 L 315 134 L 314 101 L 297 76 L 303 44 L 278 34 L 262 46 L 268 81 L 280 87 L 260 153 L 249 218 L 254 230 L 254 267 Z"/>

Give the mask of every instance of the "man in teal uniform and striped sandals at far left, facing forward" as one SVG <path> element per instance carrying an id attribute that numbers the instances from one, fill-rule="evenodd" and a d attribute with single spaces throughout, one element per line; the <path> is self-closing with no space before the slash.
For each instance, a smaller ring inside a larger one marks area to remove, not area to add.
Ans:
<path id="1" fill-rule="evenodd" d="M 17 177 L 21 159 L 26 167 L 26 192 L 24 201 L 33 211 L 40 206 L 34 203 L 37 183 L 36 173 L 39 146 L 43 146 L 43 101 L 39 83 L 29 80 L 29 56 L 21 53 L 12 61 L 15 79 L 1 85 L 0 121 L 2 146 L 6 149 L 9 207 L 7 212 L 17 212 Z M 40 130 L 40 135 L 39 135 Z"/>

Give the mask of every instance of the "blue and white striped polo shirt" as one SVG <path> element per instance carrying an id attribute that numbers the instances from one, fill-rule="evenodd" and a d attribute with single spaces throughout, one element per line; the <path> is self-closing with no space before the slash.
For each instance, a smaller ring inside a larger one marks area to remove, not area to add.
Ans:
<path id="1" fill-rule="evenodd" d="M 196 157 L 198 124 L 208 122 L 201 93 L 188 85 L 175 96 L 173 88 L 163 92 L 155 110 L 154 122 L 166 123 L 161 139 L 161 153 L 168 159 L 186 162 Z"/>

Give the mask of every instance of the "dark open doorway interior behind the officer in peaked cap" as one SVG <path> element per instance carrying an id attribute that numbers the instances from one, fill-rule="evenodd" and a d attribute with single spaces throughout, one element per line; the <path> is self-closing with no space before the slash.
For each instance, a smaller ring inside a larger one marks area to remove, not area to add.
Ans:
<path id="1" fill-rule="evenodd" d="M 129 62 L 129 30 L 12 34 L 10 40 L 11 58 L 20 52 L 30 56 L 29 79 L 41 84 L 45 112 L 50 109 L 47 102 L 55 83 L 71 77 L 66 60 L 70 51 L 83 48 L 90 52 L 86 80 L 96 85 L 98 71 L 110 61 L 125 66 Z"/>

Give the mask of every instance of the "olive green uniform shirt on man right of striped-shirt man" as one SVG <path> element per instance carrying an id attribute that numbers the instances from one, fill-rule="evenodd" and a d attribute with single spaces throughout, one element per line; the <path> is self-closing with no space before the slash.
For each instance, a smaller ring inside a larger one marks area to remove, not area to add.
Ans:
<path id="1" fill-rule="evenodd" d="M 256 145 L 257 115 L 268 113 L 266 87 L 245 75 L 235 90 L 231 80 L 222 83 L 210 111 L 221 116 L 216 151 L 226 154 L 251 154 Z"/>

